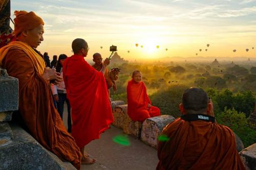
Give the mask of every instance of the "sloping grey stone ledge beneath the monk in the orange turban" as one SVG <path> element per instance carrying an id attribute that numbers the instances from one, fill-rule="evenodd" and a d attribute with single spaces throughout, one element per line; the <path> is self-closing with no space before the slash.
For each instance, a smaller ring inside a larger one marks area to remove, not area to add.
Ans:
<path id="1" fill-rule="evenodd" d="M 15 124 L 10 127 L 13 140 L 0 146 L 0 169 L 76 169 L 69 162 L 63 163 L 22 128 Z"/>

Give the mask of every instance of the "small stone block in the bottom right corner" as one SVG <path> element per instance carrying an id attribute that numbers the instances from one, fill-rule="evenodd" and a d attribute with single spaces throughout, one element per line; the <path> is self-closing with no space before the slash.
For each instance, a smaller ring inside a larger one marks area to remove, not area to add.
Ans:
<path id="1" fill-rule="evenodd" d="M 247 170 L 256 169 L 256 143 L 245 148 L 239 155 Z"/>

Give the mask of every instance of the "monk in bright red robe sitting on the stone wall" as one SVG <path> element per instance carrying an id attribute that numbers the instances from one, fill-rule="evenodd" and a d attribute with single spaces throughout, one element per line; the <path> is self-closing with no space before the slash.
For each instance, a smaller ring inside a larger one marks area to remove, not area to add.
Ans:
<path id="1" fill-rule="evenodd" d="M 134 71 L 132 78 L 127 84 L 127 112 L 131 119 L 143 122 L 146 118 L 159 116 L 160 109 L 152 106 L 146 93 L 146 86 L 141 81 L 141 72 Z"/>

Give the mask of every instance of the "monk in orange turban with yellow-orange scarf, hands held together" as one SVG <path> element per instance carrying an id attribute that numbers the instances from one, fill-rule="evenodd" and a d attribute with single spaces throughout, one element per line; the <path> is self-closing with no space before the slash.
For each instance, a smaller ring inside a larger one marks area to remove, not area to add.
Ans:
<path id="1" fill-rule="evenodd" d="M 62 81 L 46 68 L 35 48 L 44 40 L 44 21 L 34 12 L 15 11 L 16 41 L 0 49 L 0 66 L 19 80 L 18 113 L 30 134 L 62 161 L 80 169 L 81 153 L 54 107 L 49 82 Z"/>

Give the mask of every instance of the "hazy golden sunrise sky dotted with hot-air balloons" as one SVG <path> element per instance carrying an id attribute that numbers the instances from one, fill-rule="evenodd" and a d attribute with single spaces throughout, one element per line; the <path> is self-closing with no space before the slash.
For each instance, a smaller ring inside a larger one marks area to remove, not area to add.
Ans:
<path id="1" fill-rule="evenodd" d="M 71 56 L 75 38 L 88 42 L 88 59 L 96 52 L 109 57 L 111 45 L 126 60 L 256 57 L 256 0 L 11 0 L 14 10 L 45 21 L 37 50 L 50 57 Z"/>

